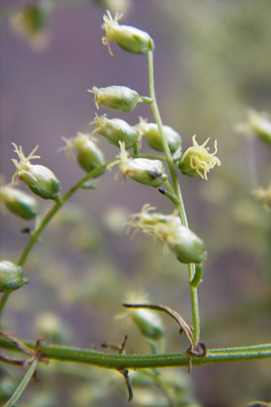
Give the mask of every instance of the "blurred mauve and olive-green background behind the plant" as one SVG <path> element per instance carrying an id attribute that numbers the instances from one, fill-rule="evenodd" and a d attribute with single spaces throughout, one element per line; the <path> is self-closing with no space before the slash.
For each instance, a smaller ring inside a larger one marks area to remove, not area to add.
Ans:
<path id="1" fill-rule="evenodd" d="M 56 151 L 64 146 L 61 137 L 92 130 L 89 122 L 97 109 L 87 90 L 126 85 L 148 94 L 146 56 L 112 43 L 112 58 L 101 43 L 106 9 L 124 13 L 120 24 L 154 39 L 156 97 L 164 124 L 182 135 L 183 151 L 194 134 L 200 144 L 210 137 L 210 152 L 218 140 L 222 165 L 207 182 L 179 176 L 190 227 L 208 251 L 199 288 L 201 341 L 209 348 L 270 342 L 270 213 L 251 189 L 256 180 L 269 185 L 271 150 L 235 131 L 248 108 L 271 111 L 270 2 L 44 0 L 40 23 L 27 33 L 16 16 L 30 3 L 2 0 L 0 172 L 5 183 L 14 174 L 11 143 L 22 146 L 26 156 L 39 145 L 39 164 L 57 175 L 65 194 L 84 172 L 76 160 Z M 131 113 L 107 111 L 108 118 L 131 125 L 138 116 L 153 121 L 144 104 Z M 99 136 L 98 147 L 107 160 L 117 154 L 117 147 Z M 151 152 L 145 143 L 142 151 Z M 164 257 L 162 245 L 150 238 L 138 234 L 131 241 L 123 226 L 144 204 L 161 213 L 172 213 L 173 204 L 154 188 L 113 180 L 114 173 L 102 175 L 97 189 L 75 194 L 34 247 L 24 266 L 30 283 L 14 292 L 4 312 L 5 328 L 15 336 L 34 341 L 42 335 L 47 342 L 91 348 L 120 345 L 126 334 L 127 353 L 148 354 L 144 337 L 123 317 L 121 304 L 131 293 L 147 295 L 192 323 L 186 266 L 173 255 Z M 40 200 L 41 214 L 50 207 Z M 18 260 L 28 241 L 20 231 L 28 225 L 1 205 L 1 259 Z M 165 352 L 183 352 L 185 339 L 170 318 L 162 319 Z M 115 372 L 53 363 L 40 371 L 40 382 L 31 384 L 20 406 L 127 403 L 125 383 Z M 271 401 L 268 360 L 194 367 L 189 377 L 186 369 L 164 369 L 162 377 L 170 374 L 168 380 L 180 386 L 180 400 L 171 404 L 157 383 L 136 387 L 135 380 L 135 406 Z M 20 370 L 3 367 L 3 401 L 20 377 Z"/>

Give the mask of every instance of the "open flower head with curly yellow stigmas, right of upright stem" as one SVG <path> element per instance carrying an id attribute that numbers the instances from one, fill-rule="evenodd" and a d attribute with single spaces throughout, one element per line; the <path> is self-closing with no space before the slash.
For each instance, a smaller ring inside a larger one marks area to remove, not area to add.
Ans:
<path id="1" fill-rule="evenodd" d="M 208 179 L 207 173 L 214 166 L 220 166 L 220 159 L 215 156 L 218 152 L 217 140 L 214 142 L 214 152 L 209 153 L 209 148 L 205 147 L 209 142 L 210 137 L 200 146 L 197 143 L 196 136 L 192 137 L 193 147 L 189 147 L 182 155 L 179 168 L 182 174 L 195 176 L 201 175 L 202 179 Z"/>

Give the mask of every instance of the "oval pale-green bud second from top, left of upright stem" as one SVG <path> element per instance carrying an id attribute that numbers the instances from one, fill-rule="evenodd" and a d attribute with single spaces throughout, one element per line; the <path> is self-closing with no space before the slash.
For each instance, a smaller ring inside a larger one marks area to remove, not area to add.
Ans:
<path id="1" fill-rule="evenodd" d="M 107 88 L 97 88 L 93 86 L 95 104 L 97 109 L 99 106 L 103 108 L 129 112 L 135 109 L 139 101 L 139 95 L 135 90 L 131 90 L 126 86 L 107 86 Z"/>

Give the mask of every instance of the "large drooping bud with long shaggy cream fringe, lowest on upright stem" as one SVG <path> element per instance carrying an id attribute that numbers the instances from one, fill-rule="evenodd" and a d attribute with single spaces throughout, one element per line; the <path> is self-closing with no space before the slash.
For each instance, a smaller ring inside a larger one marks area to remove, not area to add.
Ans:
<path id="1" fill-rule="evenodd" d="M 182 263 L 199 263 L 206 258 L 204 242 L 189 228 L 182 225 L 180 217 L 174 211 L 171 215 L 163 213 L 150 213 L 155 208 L 145 204 L 140 213 L 131 215 L 127 232 L 132 228 L 147 236 L 153 236 L 154 241 L 159 240 L 164 244 L 164 254 L 173 251 Z M 133 236 L 132 235 L 132 236 Z"/>

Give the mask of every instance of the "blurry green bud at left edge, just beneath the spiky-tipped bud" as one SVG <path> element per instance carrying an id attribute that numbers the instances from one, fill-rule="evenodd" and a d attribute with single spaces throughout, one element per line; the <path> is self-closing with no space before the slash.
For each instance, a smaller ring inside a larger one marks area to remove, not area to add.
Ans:
<path id="1" fill-rule="evenodd" d="M 0 188 L 0 201 L 5 204 L 6 209 L 29 221 L 38 214 L 38 203 L 29 194 L 25 194 L 13 186 L 5 185 Z"/>

